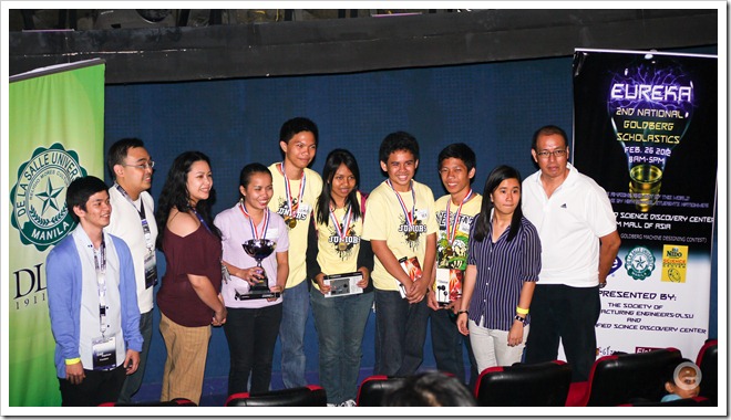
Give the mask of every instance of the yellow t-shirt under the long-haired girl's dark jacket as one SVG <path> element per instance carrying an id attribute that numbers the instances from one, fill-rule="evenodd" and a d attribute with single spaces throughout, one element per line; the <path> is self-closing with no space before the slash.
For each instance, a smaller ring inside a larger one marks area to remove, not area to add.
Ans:
<path id="1" fill-rule="evenodd" d="M 356 193 L 360 206 L 363 198 L 360 192 Z M 360 210 L 361 208 L 359 207 L 358 209 Z M 317 214 L 317 206 L 313 214 Z M 346 209 L 336 209 L 334 216 L 339 224 L 344 223 Z M 320 264 L 320 271 L 322 273 L 330 275 L 352 273 L 358 270 L 358 252 L 360 251 L 360 240 L 363 235 L 362 217 L 354 219 L 351 214 L 348 229 L 344 232 L 344 250 L 339 249 L 341 238 L 338 235 L 332 218 L 328 219 L 327 224 L 317 223 L 317 262 Z M 315 287 L 320 288 L 317 283 L 313 284 Z"/>

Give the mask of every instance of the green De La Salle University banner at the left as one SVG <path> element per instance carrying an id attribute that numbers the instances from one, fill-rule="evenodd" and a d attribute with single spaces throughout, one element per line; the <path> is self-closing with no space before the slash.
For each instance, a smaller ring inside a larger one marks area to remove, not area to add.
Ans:
<path id="1" fill-rule="evenodd" d="M 9 406 L 60 406 L 45 287 L 45 256 L 75 223 L 65 188 L 104 177 L 104 62 L 10 78 Z"/>

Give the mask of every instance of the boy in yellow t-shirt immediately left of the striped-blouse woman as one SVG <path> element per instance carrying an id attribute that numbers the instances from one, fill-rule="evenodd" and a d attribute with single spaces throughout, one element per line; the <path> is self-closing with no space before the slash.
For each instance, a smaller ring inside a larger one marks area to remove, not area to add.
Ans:
<path id="1" fill-rule="evenodd" d="M 482 196 L 472 190 L 476 172 L 476 156 L 470 146 L 455 143 L 446 146 L 437 157 L 439 176 L 446 196 L 436 200 L 436 269 L 433 291 L 428 295 L 432 349 L 436 368 L 465 381 L 462 347 L 467 347 L 471 375 L 470 385 L 477 380 L 470 340 L 463 339 L 456 327 L 456 312 L 462 302 L 462 280 L 467 267 L 470 228 L 480 214 Z M 464 343 L 464 344 L 463 344 Z"/>

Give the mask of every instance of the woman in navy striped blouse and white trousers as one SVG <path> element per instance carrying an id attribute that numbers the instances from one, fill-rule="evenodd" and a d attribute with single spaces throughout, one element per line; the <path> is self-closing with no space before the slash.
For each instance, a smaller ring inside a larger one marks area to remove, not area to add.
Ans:
<path id="1" fill-rule="evenodd" d="M 523 217 L 521 181 L 512 167 L 493 169 L 470 232 L 457 328 L 470 335 L 480 371 L 521 361 L 528 336 L 540 240 Z"/>

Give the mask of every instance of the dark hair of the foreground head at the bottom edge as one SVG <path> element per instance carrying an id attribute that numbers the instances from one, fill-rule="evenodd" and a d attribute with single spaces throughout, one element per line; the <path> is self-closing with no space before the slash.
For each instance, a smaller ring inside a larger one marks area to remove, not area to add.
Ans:
<path id="1" fill-rule="evenodd" d="M 410 376 L 385 398 L 385 407 L 477 407 L 470 389 L 454 376 L 428 371 Z"/>

